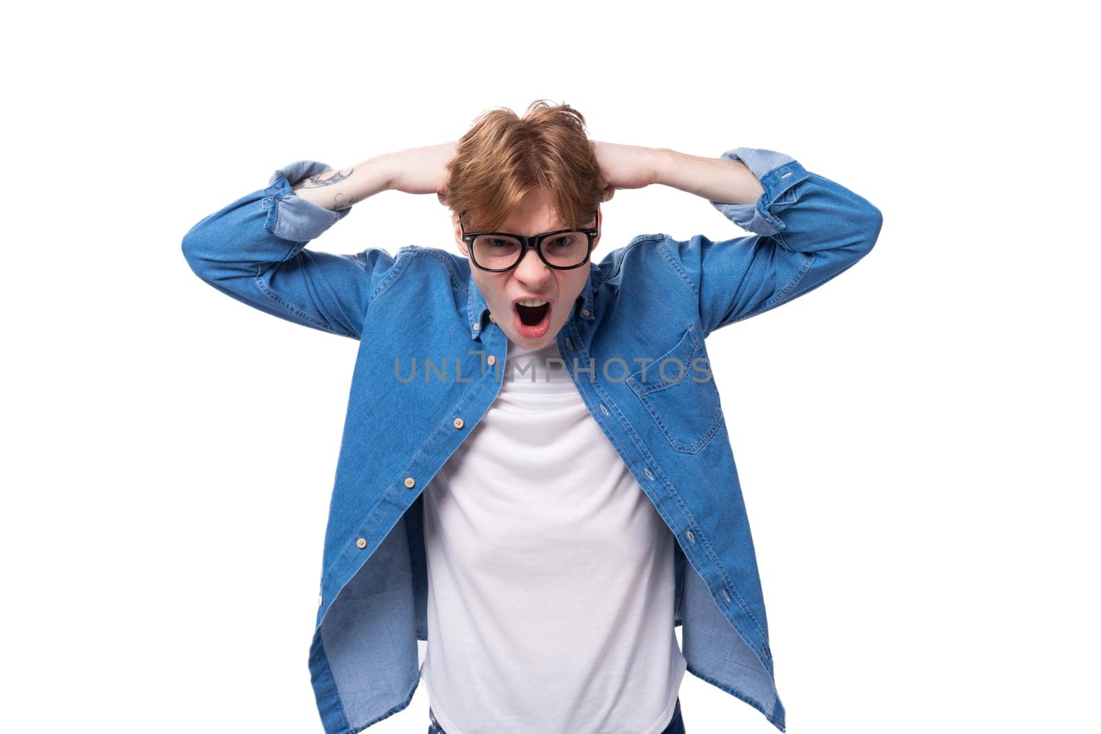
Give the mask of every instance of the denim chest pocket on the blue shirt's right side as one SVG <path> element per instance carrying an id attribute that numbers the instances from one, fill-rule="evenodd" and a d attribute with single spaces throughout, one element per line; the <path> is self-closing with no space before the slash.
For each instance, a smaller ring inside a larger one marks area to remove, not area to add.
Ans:
<path id="1" fill-rule="evenodd" d="M 677 451 L 698 452 L 722 424 L 719 390 L 694 324 L 673 349 L 629 375 L 626 384 Z"/>

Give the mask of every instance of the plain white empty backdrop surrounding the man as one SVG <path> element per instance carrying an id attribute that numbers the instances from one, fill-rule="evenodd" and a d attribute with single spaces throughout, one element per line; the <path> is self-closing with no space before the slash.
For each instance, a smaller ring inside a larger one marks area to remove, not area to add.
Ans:
<path id="1" fill-rule="evenodd" d="M 708 340 L 788 731 L 1095 726 L 1098 59 L 1069 6 L 10 13 L 0 728 L 321 731 L 357 343 L 219 294 L 181 239 L 291 161 L 539 98 L 596 140 L 788 153 L 884 215 L 855 267 Z M 384 191 L 310 247 L 449 232 L 435 196 Z M 604 205 L 604 253 L 648 232 L 744 233 L 665 186 Z M 775 731 L 691 675 L 682 705 L 690 734 Z M 422 684 L 369 731 L 427 708 Z"/>

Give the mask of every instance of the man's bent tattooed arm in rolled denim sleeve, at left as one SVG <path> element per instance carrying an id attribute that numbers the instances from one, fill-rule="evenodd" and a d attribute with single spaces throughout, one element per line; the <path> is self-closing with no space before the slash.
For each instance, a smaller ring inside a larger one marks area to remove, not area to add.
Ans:
<path id="1" fill-rule="evenodd" d="M 389 188 L 397 163 L 381 155 L 339 171 L 316 161 L 284 166 L 266 188 L 196 223 L 184 235 L 184 256 L 204 282 L 237 300 L 359 339 L 374 292 L 396 275 L 394 258 L 380 248 L 334 254 L 306 244 L 356 201 Z"/>

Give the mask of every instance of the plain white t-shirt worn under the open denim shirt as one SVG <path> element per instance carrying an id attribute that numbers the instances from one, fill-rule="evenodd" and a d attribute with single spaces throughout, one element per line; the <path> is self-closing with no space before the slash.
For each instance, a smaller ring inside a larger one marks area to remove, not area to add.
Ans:
<path id="1" fill-rule="evenodd" d="M 421 676 L 447 734 L 661 734 L 686 666 L 674 538 L 549 358 L 509 342 L 497 401 L 425 487 Z"/>

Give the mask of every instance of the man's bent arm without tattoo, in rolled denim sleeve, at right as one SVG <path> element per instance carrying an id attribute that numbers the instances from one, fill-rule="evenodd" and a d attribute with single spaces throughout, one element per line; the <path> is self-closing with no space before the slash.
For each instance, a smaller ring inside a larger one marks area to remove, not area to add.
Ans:
<path id="1" fill-rule="evenodd" d="M 665 244 L 699 299 L 705 336 L 813 291 L 879 238 L 875 206 L 784 153 L 738 147 L 706 158 L 658 149 L 652 160 L 652 183 L 702 196 L 753 232 Z"/>

